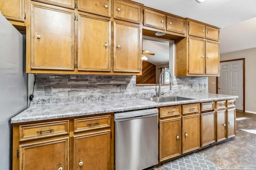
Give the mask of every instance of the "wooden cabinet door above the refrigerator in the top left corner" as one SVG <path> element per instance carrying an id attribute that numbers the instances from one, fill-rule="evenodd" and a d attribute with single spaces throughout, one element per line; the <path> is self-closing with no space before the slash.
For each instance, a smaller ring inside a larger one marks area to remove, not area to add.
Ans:
<path id="1" fill-rule="evenodd" d="M 24 21 L 24 0 L 1 0 L 0 11 L 8 20 Z"/>

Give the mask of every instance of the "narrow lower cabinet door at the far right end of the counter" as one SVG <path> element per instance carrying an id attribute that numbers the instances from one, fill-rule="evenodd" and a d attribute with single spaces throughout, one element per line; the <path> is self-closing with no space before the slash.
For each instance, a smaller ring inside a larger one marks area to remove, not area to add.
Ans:
<path id="1" fill-rule="evenodd" d="M 236 108 L 227 109 L 228 138 L 236 135 Z"/>

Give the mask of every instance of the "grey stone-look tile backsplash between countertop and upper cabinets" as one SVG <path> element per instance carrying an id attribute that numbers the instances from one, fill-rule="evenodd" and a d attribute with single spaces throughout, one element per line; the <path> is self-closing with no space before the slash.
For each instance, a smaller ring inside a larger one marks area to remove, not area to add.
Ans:
<path id="1" fill-rule="evenodd" d="M 165 95 L 186 95 L 208 93 L 208 77 L 174 77 L 172 90 L 170 86 L 161 86 Z M 191 88 L 191 83 L 194 87 Z M 206 84 L 200 88 L 199 84 Z M 121 92 L 121 85 L 127 85 L 127 91 Z M 52 95 L 45 96 L 45 86 L 52 86 Z M 115 75 L 53 75 L 37 74 L 34 88 L 34 104 L 51 98 L 56 102 L 65 98 L 71 100 L 105 100 L 112 98 L 151 97 L 157 95 L 158 86 L 136 86 L 136 76 Z M 52 101 L 52 102 L 54 102 Z"/>

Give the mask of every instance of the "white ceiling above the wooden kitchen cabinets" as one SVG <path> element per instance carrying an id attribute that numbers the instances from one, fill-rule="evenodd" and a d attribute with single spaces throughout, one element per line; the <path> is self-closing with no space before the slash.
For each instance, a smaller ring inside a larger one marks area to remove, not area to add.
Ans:
<path id="1" fill-rule="evenodd" d="M 220 53 L 256 47 L 256 0 L 206 0 L 202 3 L 195 0 L 134 1 L 222 28 Z"/>

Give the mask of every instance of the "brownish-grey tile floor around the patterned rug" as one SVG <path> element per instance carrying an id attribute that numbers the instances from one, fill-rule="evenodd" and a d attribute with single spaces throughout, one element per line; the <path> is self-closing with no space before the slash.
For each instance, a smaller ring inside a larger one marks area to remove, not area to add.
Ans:
<path id="1" fill-rule="evenodd" d="M 236 112 L 236 136 L 196 152 L 222 169 L 256 170 L 256 114 Z M 164 166 L 152 170 L 166 170 Z"/>

